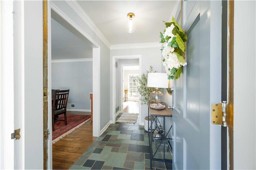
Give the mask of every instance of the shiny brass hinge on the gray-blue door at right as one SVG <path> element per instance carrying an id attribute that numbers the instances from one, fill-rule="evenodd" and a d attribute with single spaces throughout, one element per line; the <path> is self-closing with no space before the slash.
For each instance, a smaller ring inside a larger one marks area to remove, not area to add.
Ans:
<path id="1" fill-rule="evenodd" d="M 227 108 L 228 104 L 226 101 L 223 101 L 218 104 L 212 104 L 212 124 L 227 126 Z"/>

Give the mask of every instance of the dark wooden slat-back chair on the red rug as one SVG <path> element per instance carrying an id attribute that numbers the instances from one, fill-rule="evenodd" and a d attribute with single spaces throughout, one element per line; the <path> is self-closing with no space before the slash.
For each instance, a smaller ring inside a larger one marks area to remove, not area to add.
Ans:
<path id="1" fill-rule="evenodd" d="M 67 125 L 67 104 L 68 104 L 68 90 L 54 90 L 54 95 L 52 99 L 52 131 L 54 131 L 54 122 L 56 121 L 65 121 Z M 58 115 L 64 114 L 64 120 L 58 119 Z"/>

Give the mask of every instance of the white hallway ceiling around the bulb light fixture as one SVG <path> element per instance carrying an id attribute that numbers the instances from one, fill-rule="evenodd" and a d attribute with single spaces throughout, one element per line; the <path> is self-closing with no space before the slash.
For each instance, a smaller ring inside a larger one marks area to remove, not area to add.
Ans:
<path id="1" fill-rule="evenodd" d="M 110 45 L 159 42 L 163 21 L 169 21 L 176 1 L 104 0 L 77 1 Z M 127 14 L 135 14 L 136 30 L 128 33 Z"/>

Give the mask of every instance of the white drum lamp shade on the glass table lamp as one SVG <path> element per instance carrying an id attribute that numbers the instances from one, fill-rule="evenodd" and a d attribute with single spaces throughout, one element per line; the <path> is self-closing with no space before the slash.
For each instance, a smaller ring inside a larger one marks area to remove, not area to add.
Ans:
<path id="1" fill-rule="evenodd" d="M 168 88 L 169 80 L 167 73 L 151 72 L 148 73 L 148 87 Z"/>

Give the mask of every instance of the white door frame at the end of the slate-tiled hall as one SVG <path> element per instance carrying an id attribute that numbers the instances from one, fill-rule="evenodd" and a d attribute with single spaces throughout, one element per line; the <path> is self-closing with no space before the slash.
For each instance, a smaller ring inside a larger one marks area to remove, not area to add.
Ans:
<path id="1" fill-rule="evenodd" d="M 112 117 L 111 123 L 116 123 L 116 59 L 139 59 L 139 75 L 141 75 L 141 55 L 118 55 L 112 57 L 112 113 L 110 113 L 110 117 Z M 122 70 L 122 69 L 121 69 Z M 122 87 L 121 87 L 122 90 Z M 140 98 L 140 97 L 139 97 Z M 139 106 L 139 121 L 140 125 L 142 125 L 141 118 L 141 105 Z"/>

